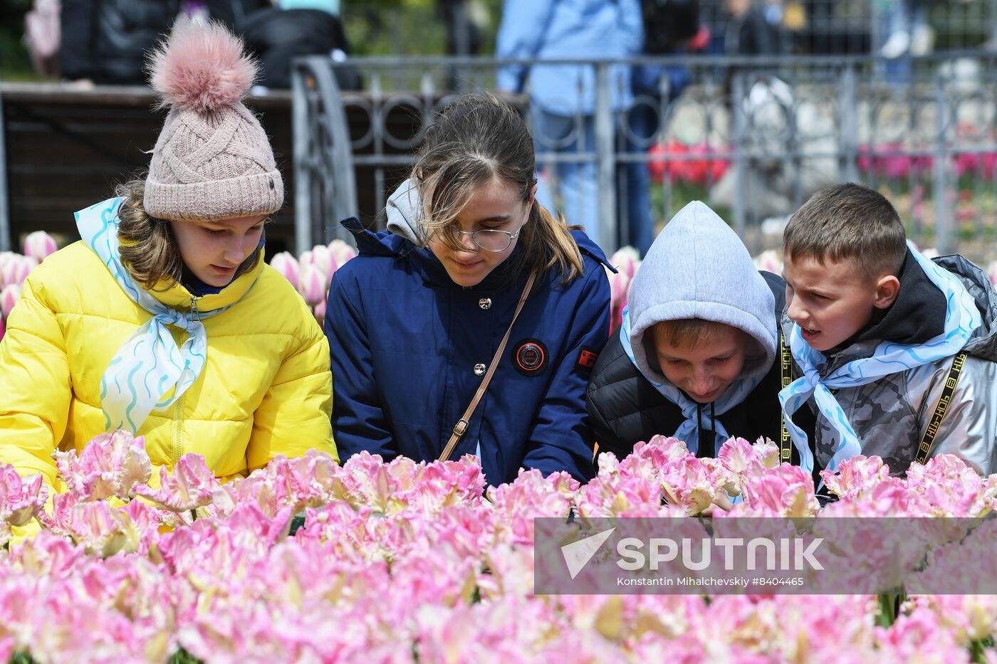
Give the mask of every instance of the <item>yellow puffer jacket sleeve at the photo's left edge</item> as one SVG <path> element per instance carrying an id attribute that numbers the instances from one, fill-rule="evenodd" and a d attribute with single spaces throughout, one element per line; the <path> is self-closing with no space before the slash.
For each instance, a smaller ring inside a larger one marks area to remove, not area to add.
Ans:
<path id="1" fill-rule="evenodd" d="M 72 382 L 66 343 L 44 282 L 32 273 L 0 341 L 0 464 L 56 485 L 52 459 L 66 433 Z"/>

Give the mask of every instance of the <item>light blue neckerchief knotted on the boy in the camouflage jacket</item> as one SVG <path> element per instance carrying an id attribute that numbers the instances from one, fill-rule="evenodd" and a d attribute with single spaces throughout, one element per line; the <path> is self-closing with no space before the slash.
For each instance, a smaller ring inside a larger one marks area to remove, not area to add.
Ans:
<path id="1" fill-rule="evenodd" d="M 783 418 L 790 437 L 800 452 L 800 465 L 808 473 L 814 472 L 814 454 L 807 444 L 807 434 L 793 423 L 791 417 L 811 395 L 814 395 L 821 414 L 840 435 L 837 448 L 828 464 L 828 470 L 836 472 L 842 461 L 861 454 L 862 446 L 831 390 L 866 385 L 889 374 L 951 357 L 962 350 L 973 330 L 982 324 L 976 302 L 959 278 L 922 255 L 909 241 L 907 246 L 924 273 L 948 300 L 944 332 L 923 344 L 884 341 L 876 346 L 871 357 L 847 362 L 822 379 L 820 369 L 827 359 L 823 353 L 814 350 L 804 341 L 800 326 L 795 323 L 793 325 L 790 348 L 793 359 L 800 365 L 804 375 L 779 393 L 779 401 L 783 406 Z"/>

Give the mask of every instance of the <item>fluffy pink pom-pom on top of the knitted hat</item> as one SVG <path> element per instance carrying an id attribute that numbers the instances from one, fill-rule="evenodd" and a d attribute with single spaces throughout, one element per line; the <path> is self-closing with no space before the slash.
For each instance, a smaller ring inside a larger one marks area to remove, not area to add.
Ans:
<path id="1" fill-rule="evenodd" d="M 256 77 L 256 64 L 221 24 L 180 17 L 150 56 L 150 71 L 164 105 L 205 114 L 241 100 Z"/>

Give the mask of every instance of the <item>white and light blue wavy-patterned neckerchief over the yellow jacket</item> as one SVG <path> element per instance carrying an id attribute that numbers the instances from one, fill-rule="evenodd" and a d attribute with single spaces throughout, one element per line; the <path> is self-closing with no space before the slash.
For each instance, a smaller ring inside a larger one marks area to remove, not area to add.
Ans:
<path id="1" fill-rule="evenodd" d="M 207 355 L 207 334 L 200 320 L 232 305 L 205 312 L 175 311 L 136 283 L 121 263 L 118 208 L 122 200 L 109 198 L 82 209 L 76 213 L 76 223 L 80 236 L 104 261 L 122 290 L 153 314 L 122 344 L 101 378 L 105 427 L 134 435 L 153 410 L 169 408 L 197 380 Z M 186 331 L 187 339 L 179 348 L 167 325 Z M 161 400 L 170 388 L 174 388 L 173 396 Z"/>

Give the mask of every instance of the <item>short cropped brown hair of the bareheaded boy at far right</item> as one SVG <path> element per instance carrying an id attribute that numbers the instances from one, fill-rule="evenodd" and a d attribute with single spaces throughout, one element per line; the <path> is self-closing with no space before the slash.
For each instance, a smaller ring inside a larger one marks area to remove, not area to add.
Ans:
<path id="1" fill-rule="evenodd" d="M 815 193 L 783 233 L 784 256 L 821 263 L 852 258 L 866 279 L 898 274 L 906 253 L 906 232 L 893 205 L 852 182 Z"/>

